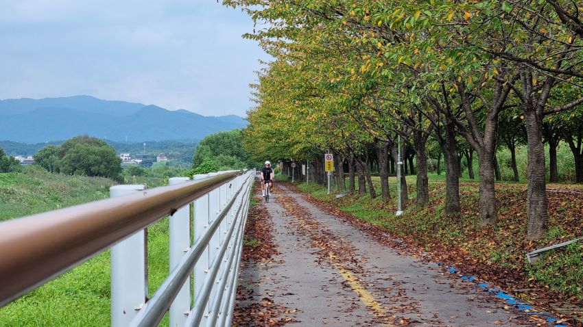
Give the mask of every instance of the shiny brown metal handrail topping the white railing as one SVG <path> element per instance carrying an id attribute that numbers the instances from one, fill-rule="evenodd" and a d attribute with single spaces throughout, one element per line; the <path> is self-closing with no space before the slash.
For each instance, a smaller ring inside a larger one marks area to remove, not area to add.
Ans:
<path id="1" fill-rule="evenodd" d="M 1 222 L 0 306 L 239 174 L 227 172 Z"/>

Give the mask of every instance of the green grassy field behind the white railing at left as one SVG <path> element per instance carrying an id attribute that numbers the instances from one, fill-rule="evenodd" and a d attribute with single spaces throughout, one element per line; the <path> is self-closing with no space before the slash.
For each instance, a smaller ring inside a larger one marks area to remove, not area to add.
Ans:
<path id="1" fill-rule="evenodd" d="M 0 220 L 109 197 L 109 179 L 51 174 L 42 168 L 0 174 Z M 157 186 L 154 181 L 149 187 Z M 159 182 L 158 182 L 159 183 Z M 150 296 L 169 273 L 168 219 L 148 228 Z M 109 326 L 110 252 L 98 254 L 0 308 L 0 326 Z M 167 326 L 167 317 L 160 326 Z"/>

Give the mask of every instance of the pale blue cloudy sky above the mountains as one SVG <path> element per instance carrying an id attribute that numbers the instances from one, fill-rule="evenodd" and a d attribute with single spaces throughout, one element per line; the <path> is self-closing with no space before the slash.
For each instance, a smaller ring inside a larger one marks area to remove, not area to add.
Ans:
<path id="1" fill-rule="evenodd" d="M 252 29 L 216 0 L 0 0 L 0 99 L 87 94 L 246 116 L 267 60 L 241 38 Z"/>

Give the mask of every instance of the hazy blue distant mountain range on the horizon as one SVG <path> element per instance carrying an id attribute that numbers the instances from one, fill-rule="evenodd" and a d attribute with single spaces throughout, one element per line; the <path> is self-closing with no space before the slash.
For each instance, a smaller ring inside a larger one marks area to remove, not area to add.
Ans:
<path id="1" fill-rule="evenodd" d="M 239 116 L 202 116 L 184 109 L 105 101 L 93 96 L 0 100 L 0 140 L 25 143 L 88 134 L 119 142 L 195 142 L 247 125 Z"/>

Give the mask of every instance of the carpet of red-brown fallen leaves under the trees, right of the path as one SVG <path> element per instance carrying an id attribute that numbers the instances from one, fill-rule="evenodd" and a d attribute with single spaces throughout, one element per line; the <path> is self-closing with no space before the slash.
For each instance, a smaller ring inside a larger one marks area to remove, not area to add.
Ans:
<path id="1" fill-rule="evenodd" d="M 439 183 L 430 185 L 432 202 L 427 207 L 407 211 L 407 215 L 401 218 L 394 217 L 394 202 L 383 203 L 379 198 L 367 198 L 367 204 L 361 205 L 359 209 L 372 211 L 374 216 L 357 218 L 355 215 L 358 215 L 358 209 L 353 209 L 353 206 L 355 203 L 361 204 L 364 197 L 349 195 L 340 199 L 334 196 L 314 198 L 296 185 L 290 187 L 298 190 L 305 200 L 324 212 L 343 218 L 381 244 L 427 261 L 453 265 L 464 274 L 477 276 L 514 293 L 517 298 L 545 308 L 543 311 L 553 311 L 560 317 L 559 322 L 583 326 L 583 292 L 572 295 L 554 291 L 528 273 L 524 253 L 547 246 L 549 239 L 538 242 L 525 240 L 525 185 L 497 185 L 499 222 L 495 226 L 486 227 L 477 226 L 479 207 L 475 205 L 478 202 L 475 183 L 460 183 L 462 215 L 458 217 L 445 217 L 438 213 L 437 208 L 444 194 L 444 185 Z M 414 185 L 409 188 L 414 191 Z M 559 226 L 560 231 L 551 244 L 583 236 L 581 189 L 549 187 L 548 195 L 549 220 L 551 226 Z M 409 205 L 413 206 L 414 203 Z M 427 221 L 427 217 L 435 218 Z M 575 266 L 575 269 L 578 268 Z M 583 266 L 580 266 L 579 272 L 582 271 Z M 578 280 L 578 283 L 583 283 L 583 280 Z M 571 306 L 573 310 L 549 310 L 559 306 Z M 545 326 L 543 317 L 530 317 L 533 322 Z"/>

